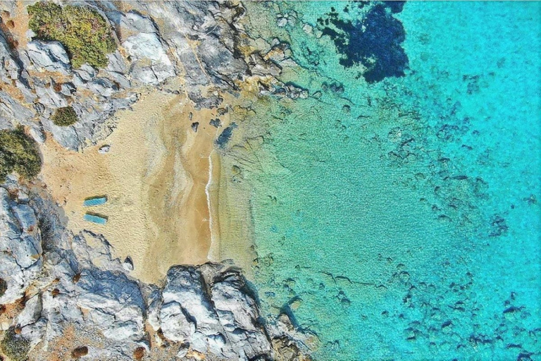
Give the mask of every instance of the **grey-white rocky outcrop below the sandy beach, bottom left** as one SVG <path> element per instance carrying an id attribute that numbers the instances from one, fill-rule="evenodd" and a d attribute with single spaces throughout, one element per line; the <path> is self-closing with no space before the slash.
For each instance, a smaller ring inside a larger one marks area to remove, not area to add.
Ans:
<path id="1" fill-rule="evenodd" d="M 73 235 L 43 190 L 13 177 L 0 187 L 0 231 L 4 353 L 23 345 L 30 360 L 63 360 L 81 347 L 89 360 L 132 360 L 136 351 L 144 360 L 302 360 L 308 350 L 287 315 L 261 319 L 232 264 L 175 266 L 163 285 L 141 283 L 105 238 Z M 86 336 L 58 348 L 69 329 Z"/>

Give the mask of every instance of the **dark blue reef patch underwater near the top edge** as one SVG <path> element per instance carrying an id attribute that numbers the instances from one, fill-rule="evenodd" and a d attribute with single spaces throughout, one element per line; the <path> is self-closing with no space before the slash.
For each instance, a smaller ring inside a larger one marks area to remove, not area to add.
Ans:
<path id="1" fill-rule="evenodd" d="M 331 11 L 328 18 L 318 19 L 323 35 L 335 43 L 341 54 L 340 64 L 346 68 L 363 65 L 363 78 L 379 82 L 387 77 L 404 76 L 408 56 L 402 49 L 406 38 L 404 26 L 392 16 L 402 11 L 404 4 L 377 4 L 362 20 L 342 20 Z M 390 9 L 390 11 L 387 10 Z"/>

